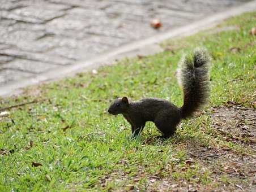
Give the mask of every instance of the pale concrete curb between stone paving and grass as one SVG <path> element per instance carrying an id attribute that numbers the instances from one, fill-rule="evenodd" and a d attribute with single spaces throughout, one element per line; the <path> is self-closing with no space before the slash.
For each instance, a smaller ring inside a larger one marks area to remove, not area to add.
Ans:
<path id="1" fill-rule="evenodd" d="M 11 94 L 20 93 L 20 88 L 25 88 L 29 85 L 35 85 L 39 82 L 57 80 L 58 78 L 74 75 L 78 72 L 84 72 L 92 68 L 97 68 L 104 63 L 112 63 L 116 59 L 122 59 L 127 56 L 136 56 L 138 54 L 149 55 L 162 51 L 158 45 L 160 42 L 173 37 L 190 36 L 198 32 L 199 30 L 214 27 L 220 21 L 230 18 L 231 16 L 240 15 L 244 12 L 250 12 L 256 10 L 256 0 L 245 3 L 244 5 L 230 8 L 227 11 L 219 12 L 208 18 L 196 21 L 192 24 L 185 25 L 184 27 L 171 30 L 169 32 L 157 34 L 150 38 L 146 38 L 141 41 L 129 43 L 125 46 L 118 47 L 116 50 L 112 50 L 109 53 L 99 55 L 97 57 L 84 60 L 73 64 L 72 66 L 60 67 L 53 71 L 46 72 L 36 77 L 25 78 L 19 82 L 13 82 L 0 87 L 0 96 L 6 97 Z"/>

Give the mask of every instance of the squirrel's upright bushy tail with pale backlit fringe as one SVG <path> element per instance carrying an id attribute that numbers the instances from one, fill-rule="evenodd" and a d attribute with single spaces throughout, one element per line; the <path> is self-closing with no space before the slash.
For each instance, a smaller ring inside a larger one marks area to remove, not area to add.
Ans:
<path id="1" fill-rule="evenodd" d="M 209 71 L 211 58 L 204 49 L 197 49 L 193 55 L 184 56 L 178 68 L 178 81 L 184 92 L 184 104 L 181 107 L 181 117 L 193 116 L 209 98 Z"/>

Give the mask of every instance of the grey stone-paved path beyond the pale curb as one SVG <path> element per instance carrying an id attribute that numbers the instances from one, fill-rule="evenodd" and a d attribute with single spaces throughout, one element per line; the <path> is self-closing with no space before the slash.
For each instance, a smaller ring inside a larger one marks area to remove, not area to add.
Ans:
<path id="1" fill-rule="evenodd" d="M 0 0 L 0 90 L 246 0 Z M 152 19 L 163 23 L 150 27 Z"/>

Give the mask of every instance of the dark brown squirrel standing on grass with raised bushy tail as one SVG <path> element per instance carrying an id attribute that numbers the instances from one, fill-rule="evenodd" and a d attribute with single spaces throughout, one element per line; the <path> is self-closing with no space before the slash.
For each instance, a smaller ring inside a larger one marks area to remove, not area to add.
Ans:
<path id="1" fill-rule="evenodd" d="M 122 114 L 131 124 L 133 136 L 142 132 L 146 121 L 153 121 L 164 138 L 176 132 L 176 126 L 182 119 L 192 117 L 209 98 L 209 71 L 211 58 L 204 49 L 184 56 L 179 63 L 177 78 L 184 93 L 181 108 L 159 98 L 145 98 L 131 102 L 127 97 L 116 99 L 109 107 L 112 115 Z"/>

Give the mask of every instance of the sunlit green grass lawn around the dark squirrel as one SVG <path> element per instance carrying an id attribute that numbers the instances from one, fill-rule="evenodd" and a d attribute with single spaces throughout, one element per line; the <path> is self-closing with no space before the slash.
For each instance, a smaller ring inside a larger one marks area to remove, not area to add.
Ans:
<path id="1" fill-rule="evenodd" d="M 39 102 L 13 108 L 9 116 L 0 117 L 0 149 L 10 151 L 0 156 L 0 191 L 160 190 L 168 189 L 161 188 L 165 180 L 171 189 L 187 189 L 182 188 L 186 184 L 200 190 L 219 189 L 224 184 L 227 190 L 239 189 L 234 184 L 248 188 L 251 177 L 246 171 L 246 179 L 225 171 L 215 173 L 224 169 L 225 155 L 209 163 L 193 154 L 199 149 L 229 147 L 234 158 L 254 155 L 251 146 L 226 141 L 214 129 L 210 108 L 229 101 L 255 107 L 256 44 L 255 36 L 249 34 L 255 14 L 217 26 L 236 27 L 233 30 L 214 32 L 214 28 L 162 43 L 174 53 L 167 49 L 142 59 L 122 60 L 99 68 L 96 75 L 80 73 L 1 99 L 1 107 L 34 99 Z M 155 125 L 147 123 L 142 136 L 131 140 L 125 119 L 106 113 L 110 102 L 121 96 L 132 100 L 159 97 L 181 106 L 177 63 L 182 54 L 198 46 L 208 49 L 214 64 L 206 112 L 183 121 L 173 138 L 158 139 Z M 240 51 L 231 51 L 232 47 Z M 33 167 L 32 162 L 42 165 Z"/>

